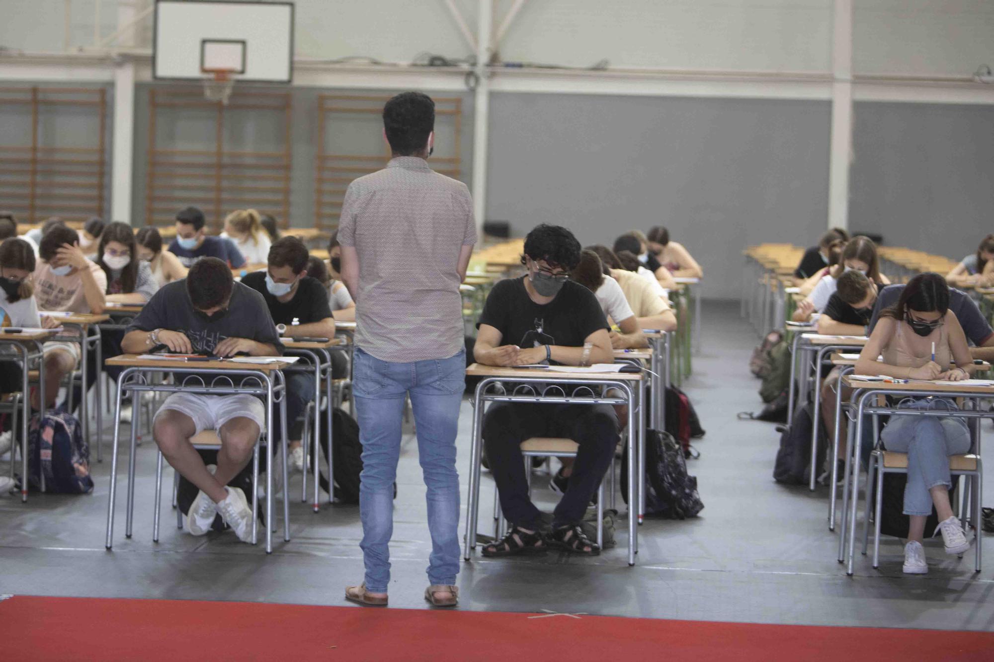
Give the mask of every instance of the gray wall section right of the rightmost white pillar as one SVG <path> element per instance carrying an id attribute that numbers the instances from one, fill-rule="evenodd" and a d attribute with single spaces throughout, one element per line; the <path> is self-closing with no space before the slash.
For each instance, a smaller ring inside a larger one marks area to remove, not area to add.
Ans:
<path id="1" fill-rule="evenodd" d="M 849 226 L 959 257 L 994 233 L 994 107 L 857 103 Z"/>

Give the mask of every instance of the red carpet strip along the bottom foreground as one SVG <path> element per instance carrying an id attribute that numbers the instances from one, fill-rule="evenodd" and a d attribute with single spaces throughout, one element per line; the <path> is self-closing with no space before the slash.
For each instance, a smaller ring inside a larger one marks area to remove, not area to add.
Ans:
<path id="1" fill-rule="evenodd" d="M 7 660 L 994 660 L 994 633 L 250 602 L 0 601 Z"/>

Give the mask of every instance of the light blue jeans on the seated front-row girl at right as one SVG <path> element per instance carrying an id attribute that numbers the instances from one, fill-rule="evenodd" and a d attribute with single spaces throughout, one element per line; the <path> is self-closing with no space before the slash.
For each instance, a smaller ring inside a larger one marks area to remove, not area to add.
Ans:
<path id="1" fill-rule="evenodd" d="M 956 410 L 951 400 L 906 401 L 899 409 Z M 970 450 L 966 421 L 952 416 L 896 415 L 880 434 L 888 450 L 908 453 L 908 485 L 905 487 L 905 515 L 929 515 L 932 499 L 929 489 L 936 485 L 952 487 L 949 455 Z"/>

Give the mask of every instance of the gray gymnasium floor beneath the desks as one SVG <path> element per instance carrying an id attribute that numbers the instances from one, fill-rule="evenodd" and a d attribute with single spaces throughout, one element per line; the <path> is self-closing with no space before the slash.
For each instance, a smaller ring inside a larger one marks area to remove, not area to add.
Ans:
<path id="1" fill-rule="evenodd" d="M 778 435 L 768 423 L 736 418 L 738 412 L 760 407 L 758 382 L 746 370 L 755 335 L 739 318 L 737 305 L 706 305 L 704 314 L 704 352 L 695 359 L 695 375 L 686 385 L 708 430 L 697 442 L 701 459 L 690 464 L 706 504 L 701 516 L 685 522 L 647 521 L 640 528 L 634 568 L 625 563 L 624 534 L 618 548 L 591 560 L 560 554 L 484 560 L 476 555 L 459 576 L 461 607 L 994 628 L 994 581 L 987 570 L 994 563 L 990 537 L 983 541 L 988 566 L 979 575 L 972 572 L 970 555 L 962 561 L 945 557 L 933 542 L 926 545 L 929 574 L 903 577 L 902 548 L 889 539 L 880 571 L 860 557 L 856 576 L 846 577 L 835 560 L 836 534 L 827 528 L 826 489 L 810 493 L 774 483 L 770 472 Z M 464 404 L 459 433 L 463 481 L 469 412 Z M 292 501 L 292 541 L 278 539 L 267 557 L 232 534 L 193 538 L 177 531 L 166 505 L 162 539 L 153 544 L 153 450 L 149 442 L 138 450 L 134 537 L 123 537 L 121 495 L 112 552 L 103 549 L 109 462 L 94 465 L 96 489 L 89 496 L 32 494 L 27 505 L 10 496 L 0 498 L 0 593 L 342 604 L 343 587 L 362 579 L 357 507 L 326 506 L 314 514 Z M 483 476 L 480 521 L 481 531 L 487 531 L 493 483 L 486 472 Z M 166 477 L 171 478 L 171 470 Z M 994 484 L 990 477 L 988 485 Z M 291 485 L 299 486 L 298 481 Z M 405 439 L 398 482 L 391 604 L 422 608 L 429 540 L 411 437 Z M 545 484 L 544 476 L 536 477 L 537 501 L 551 510 L 555 495 Z"/>

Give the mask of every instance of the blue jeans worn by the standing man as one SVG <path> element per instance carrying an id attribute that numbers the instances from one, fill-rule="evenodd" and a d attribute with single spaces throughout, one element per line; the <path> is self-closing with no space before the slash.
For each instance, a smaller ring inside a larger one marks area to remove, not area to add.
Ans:
<path id="1" fill-rule="evenodd" d="M 359 513 L 363 521 L 366 588 L 385 593 L 390 584 L 394 533 L 394 481 L 401 456 L 401 424 L 410 394 L 417 454 L 427 486 L 431 555 L 428 581 L 454 584 L 459 572 L 459 474 L 455 433 L 465 389 L 466 353 L 448 359 L 392 363 L 356 348 L 353 393 L 363 444 Z"/>

